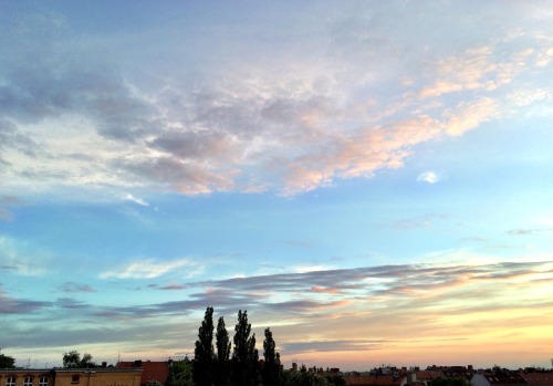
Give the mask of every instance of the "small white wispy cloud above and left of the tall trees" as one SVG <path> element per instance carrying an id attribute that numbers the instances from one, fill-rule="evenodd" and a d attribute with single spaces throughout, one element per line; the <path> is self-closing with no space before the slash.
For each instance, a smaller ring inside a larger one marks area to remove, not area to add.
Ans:
<path id="1" fill-rule="evenodd" d="M 106 271 L 100 274 L 101 279 L 155 279 L 165 274 L 182 273 L 182 268 L 187 268 L 186 277 L 192 275 L 198 270 L 198 264 L 188 259 L 161 261 L 140 260 L 129 263 L 121 270 Z M 192 273 L 191 273 L 192 272 Z"/>

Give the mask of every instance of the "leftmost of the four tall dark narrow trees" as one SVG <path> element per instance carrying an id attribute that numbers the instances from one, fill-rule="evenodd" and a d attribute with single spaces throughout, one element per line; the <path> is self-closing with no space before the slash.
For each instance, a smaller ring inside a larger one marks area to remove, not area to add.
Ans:
<path id="1" fill-rule="evenodd" d="M 194 383 L 196 386 L 213 384 L 213 307 L 207 307 L 206 315 L 198 330 L 196 341 Z"/>

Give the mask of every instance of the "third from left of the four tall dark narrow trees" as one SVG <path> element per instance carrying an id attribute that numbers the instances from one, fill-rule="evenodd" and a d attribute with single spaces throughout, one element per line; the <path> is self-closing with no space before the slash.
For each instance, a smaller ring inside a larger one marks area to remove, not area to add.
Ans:
<path id="1" fill-rule="evenodd" d="M 232 352 L 232 383 L 234 386 L 255 386 L 258 384 L 259 355 L 255 350 L 255 334 L 250 336 L 251 324 L 248 311 L 238 312 L 234 327 L 234 347 Z"/>

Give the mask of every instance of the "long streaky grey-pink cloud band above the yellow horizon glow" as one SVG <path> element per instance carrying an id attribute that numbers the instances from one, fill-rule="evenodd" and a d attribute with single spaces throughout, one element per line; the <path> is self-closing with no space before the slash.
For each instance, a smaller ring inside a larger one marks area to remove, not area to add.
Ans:
<path id="1" fill-rule="evenodd" d="M 482 298 L 474 294 L 470 300 L 469 293 L 480 291 L 482 295 L 482 280 L 489 285 L 501 288 L 501 291 L 511 292 L 512 280 L 530 280 L 540 272 L 549 272 L 551 264 L 536 263 L 498 263 L 482 265 L 384 265 L 374 268 L 358 268 L 355 270 L 313 271 L 294 274 L 275 274 L 270 277 L 252 277 L 232 279 L 201 284 L 232 293 L 258 293 L 269 298 L 260 298 L 257 309 L 280 310 L 288 313 L 309 312 L 310 314 L 327 313 L 328 306 L 337 307 L 338 314 L 346 309 L 355 310 L 363 299 L 378 300 L 375 305 L 386 302 L 393 304 L 439 304 L 441 299 L 448 304 L 448 296 L 465 293 L 467 304 L 480 304 Z M 547 268 L 550 267 L 550 268 Z M 487 284 L 487 285 L 488 285 Z M 195 286 L 195 284 L 189 284 Z M 324 291 L 312 291 L 324 289 Z M 489 293 L 493 296 L 492 293 Z M 338 302 L 340 300 L 340 302 Z M 341 303 L 344 302 L 345 303 Z M 389 305 L 392 306 L 392 305 Z M 498 304 L 498 306 L 508 306 Z M 393 307 L 393 306 L 392 306 Z M 371 309 L 371 306 L 369 306 Z M 364 307 L 367 311 L 366 307 Z M 392 309 L 390 309 L 392 310 Z M 397 312 L 400 312 L 399 309 Z"/>

